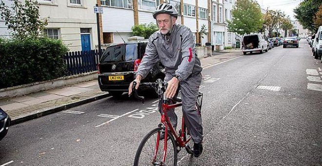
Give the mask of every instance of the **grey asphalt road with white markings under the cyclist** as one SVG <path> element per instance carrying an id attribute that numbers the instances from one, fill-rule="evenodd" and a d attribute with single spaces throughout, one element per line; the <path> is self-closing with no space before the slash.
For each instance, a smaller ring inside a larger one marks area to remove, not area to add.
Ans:
<path id="1" fill-rule="evenodd" d="M 181 151 L 178 166 L 321 166 L 321 68 L 305 40 L 204 68 L 204 153 Z M 109 97 L 11 126 L 0 166 L 131 166 L 160 122 L 154 101 Z"/>

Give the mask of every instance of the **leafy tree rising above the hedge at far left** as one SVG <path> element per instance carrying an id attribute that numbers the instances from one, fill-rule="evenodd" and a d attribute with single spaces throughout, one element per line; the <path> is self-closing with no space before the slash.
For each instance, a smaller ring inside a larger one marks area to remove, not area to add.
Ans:
<path id="1" fill-rule="evenodd" d="M 12 30 L 13 37 L 16 39 L 38 39 L 41 37 L 47 19 L 40 20 L 39 6 L 36 1 L 13 0 L 13 6 L 6 6 L 1 0 L 0 16 L 5 21 L 8 29 Z"/>

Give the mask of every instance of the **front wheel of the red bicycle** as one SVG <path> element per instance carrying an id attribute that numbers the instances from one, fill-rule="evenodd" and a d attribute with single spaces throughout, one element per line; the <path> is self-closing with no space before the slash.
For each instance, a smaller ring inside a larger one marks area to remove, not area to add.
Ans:
<path id="1" fill-rule="evenodd" d="M 157 149 L 157 137 L 161 130 L 162 127 L 155 128 L 143 138 L 135 155 L 134 166 L 177 166 L 178 153 L 176 141 L 170 132 L 168 132 L 169 139 L 159 141 L 159 147 Z M 165 141 L 167 142 L 167 147 L 166 157 L 163 163 Z M 155 154 L 156 152 L 157 154 Z"/>

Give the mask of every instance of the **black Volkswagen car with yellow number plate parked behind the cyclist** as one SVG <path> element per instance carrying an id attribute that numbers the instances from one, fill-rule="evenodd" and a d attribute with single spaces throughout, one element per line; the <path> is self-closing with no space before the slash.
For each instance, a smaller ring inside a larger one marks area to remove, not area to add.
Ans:
<path id="1" fill-rule="evenodd" d="M 123 92 L 128 91 L 128 87 L 135 79 L 135 73 L 144 56 L 147 42 L 147 40 L 125 42 L 106 48 L 98 64 L 98 82 L 102 91 L 108 91 L 115 97 L 121 96 Z M 158 62 L 141 82 L 163 80 L 164 76 L 164 66 L 161 62 Z M 142 90 L 149 89 L 140 86 L 139 91 Z M 152 89 L 151 91 L 155 92 Z"/>

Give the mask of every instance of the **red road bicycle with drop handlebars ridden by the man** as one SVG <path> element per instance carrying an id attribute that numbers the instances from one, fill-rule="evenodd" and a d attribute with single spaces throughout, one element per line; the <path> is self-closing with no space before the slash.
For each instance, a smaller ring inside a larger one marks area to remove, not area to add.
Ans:
<path id="1" fill-rule="evenodd" d="M 144 103 L 144 97 L 138 96 L 137 90 L 134 88 L 135 85 L 136 83 L 133 84 L 134 97 Z M 166 104 L 165 85 L 161 79 L 158 79 L 156 83 L 141 83 L 141 85 L 150 86 L 159 94 L 161 123 L 145 135 L 141 141 L 135 155 L 134 166 L 177 166 L 178 153 L 181 149 L 184 148 L 187 153 L 193 154 L 193 141 L 191 141 L 189 132 L 184 125 L 183 117 L 181 129 L 177 134 L 167 115 L 168 110 L 182 105 L 181 99 L 173 99 L 175 104 Z M 199 112 L 201 111 L 202 97 L 203 94 L 199 92 L 196 102 Z M 160 139 L 161 133 L 164 133 L 164 139 Z"/>

